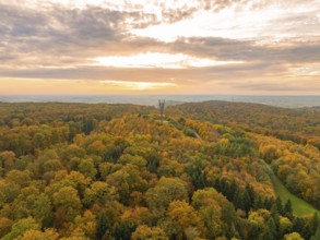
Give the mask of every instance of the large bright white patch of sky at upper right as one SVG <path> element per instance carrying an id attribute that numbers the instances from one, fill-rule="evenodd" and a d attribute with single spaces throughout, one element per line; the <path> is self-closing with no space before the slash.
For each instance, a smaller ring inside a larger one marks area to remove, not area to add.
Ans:
<path id="1" fill-rule="evenodd" d="M 270 40 L 291 37 L 304 38 L 305 28 L 312 24 L 310 23 L 312 20 L 300 20 L 300 16 L 309 13 L 315 13 L 313 4 L 278 3 L 262 9 L 245 5 L 241 10 L 230 7 L 215 13 L 206 10 L 198 11 L 192 16 L 176 23 L 152 25 L 146 28 L 132 29 L 131 33 L 164 41 L 175 41 L 178 37 L 194 36 L 230 39 L 268 37 Z M 319 24 L 309 27 L 308 34 L 320 36 Z"/>

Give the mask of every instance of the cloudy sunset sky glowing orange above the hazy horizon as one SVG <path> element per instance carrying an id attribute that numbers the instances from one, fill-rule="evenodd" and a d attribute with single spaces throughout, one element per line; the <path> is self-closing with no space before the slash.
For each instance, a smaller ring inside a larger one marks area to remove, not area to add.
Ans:
<path id="1" fill-rule="evenodd" d="M 320 0 L 0 0 L 0 94 L 320 95 Z"/>

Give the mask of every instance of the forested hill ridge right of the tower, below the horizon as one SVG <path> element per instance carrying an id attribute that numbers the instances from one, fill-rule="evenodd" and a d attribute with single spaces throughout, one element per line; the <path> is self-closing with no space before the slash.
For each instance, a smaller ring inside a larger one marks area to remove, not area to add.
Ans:
<path id="1" fill-rule="evenodd" d="M 171 115 L 186 116 L 246 131 L 273 135 L 320 148 L 320 107 L 288 109 L 261 104 L 205 101 L 170 107 Z"/>

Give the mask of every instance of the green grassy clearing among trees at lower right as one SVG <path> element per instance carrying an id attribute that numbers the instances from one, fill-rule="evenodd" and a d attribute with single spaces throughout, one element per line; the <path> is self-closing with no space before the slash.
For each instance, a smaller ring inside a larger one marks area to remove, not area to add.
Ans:
<path id="1" fill-rule="evenodd" d="M 285 188 L 285 185 L 282 183 L 282 181 L 280 181 L 280 179 L 276 176 L 271 175 L 270 177 L 271 177 L 271 180 L 272 180 L 272 183 L 273 183 L 274 191 L 275 191 L 276 195 L 280 196 L 282 202 L 285 204 L 287 200 L 292 201 L 293 209 L 294 209 L 295 215 L 304 216 L 304 215 L 307 215 L 307 214 L 313 214 L 315 212 L 317 212 L 318 215 L 320 215 L 320 211 L 316 209 L 312 205 L 310 205 L 306 201 L 304 201 L 304 200 L 297 197 L 296 195 L 292 194 Z"/>

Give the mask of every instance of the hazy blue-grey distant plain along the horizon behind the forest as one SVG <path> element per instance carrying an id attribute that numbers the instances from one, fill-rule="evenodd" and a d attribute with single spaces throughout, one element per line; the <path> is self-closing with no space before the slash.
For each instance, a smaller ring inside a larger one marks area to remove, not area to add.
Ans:
<path id="1" fill-rule="evenodd" d="M 171 103 L 202 103 L 223 100 L 230 103 L 256 103 L 270 106 L 301 108 L 320 106 L 320 96 L 237 96 L 237 95 L 0 95 L 7 103 L 87 103 L 87 104 L 135 104 L 157 105 L 158 99 Z"/>

